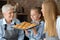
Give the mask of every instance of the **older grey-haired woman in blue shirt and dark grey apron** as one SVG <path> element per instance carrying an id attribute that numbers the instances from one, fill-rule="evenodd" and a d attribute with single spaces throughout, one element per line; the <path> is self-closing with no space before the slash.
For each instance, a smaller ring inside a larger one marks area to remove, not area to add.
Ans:
<path id="1" fill-rule="evenodd" d="M 23 40 L 23 30 L 14 29 L 20 21 L 14 18 L 14 7 L 11 4 L 2 6 L 3 18 L 0 19 L 0 40 Z"/>

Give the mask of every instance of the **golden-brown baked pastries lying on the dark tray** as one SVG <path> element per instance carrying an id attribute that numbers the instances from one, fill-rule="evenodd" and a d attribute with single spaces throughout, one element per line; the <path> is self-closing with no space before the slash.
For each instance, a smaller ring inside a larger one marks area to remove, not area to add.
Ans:
<path id="1" fill-rule="evenodd" d="M 29 29 L 36 26 L 36 24 L 29 23 L 29 22 L 22 22 L 21 24 L 17 24 L 14 27 L 17 29 Z"/>

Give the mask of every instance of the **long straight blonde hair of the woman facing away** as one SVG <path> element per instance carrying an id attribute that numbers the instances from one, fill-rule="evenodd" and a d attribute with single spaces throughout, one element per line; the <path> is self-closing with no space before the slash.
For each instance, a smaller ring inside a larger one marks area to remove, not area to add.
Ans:
<path id="1" fill-rule="evenodd" d="M 46 32 L 48 32 L 49 36 L 56 36 L 57 5 L 53 0 L 45 0 L 42 5 L 45 9 L 44 19 Z"/>

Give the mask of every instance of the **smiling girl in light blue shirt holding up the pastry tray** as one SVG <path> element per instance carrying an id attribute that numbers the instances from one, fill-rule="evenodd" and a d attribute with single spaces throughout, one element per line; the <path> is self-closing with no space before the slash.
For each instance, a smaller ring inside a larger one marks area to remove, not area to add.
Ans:
<path id="1" fill-rule="evenodd" d="M 42 21 L 43 17 L 41 13 L 41 8 L 32 8 L 30 11 L 30 16 L 32 19 L 32 23 L 35 23 L 38 26 L 25 30 L 26 36 L 29 38 L 29 40 L 40 40 L 44 30 L 44 21 Z"/>

